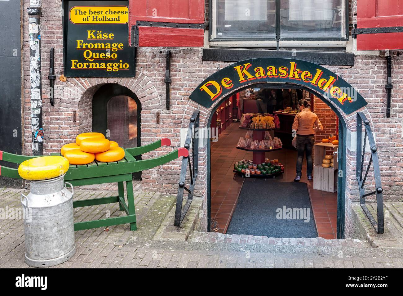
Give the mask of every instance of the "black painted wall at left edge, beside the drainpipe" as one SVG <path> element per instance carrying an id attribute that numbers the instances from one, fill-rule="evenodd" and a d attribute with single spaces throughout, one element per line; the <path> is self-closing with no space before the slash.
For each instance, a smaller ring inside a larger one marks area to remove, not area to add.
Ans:
<path id="1" fill-rule="evenodd" d="M 21 154 L 21 3 L 0 1 L 0 150 Z M 0 165 L 13 166 L 0 161 Z M 0 188 L 21 180 L 0 176 Z"/>

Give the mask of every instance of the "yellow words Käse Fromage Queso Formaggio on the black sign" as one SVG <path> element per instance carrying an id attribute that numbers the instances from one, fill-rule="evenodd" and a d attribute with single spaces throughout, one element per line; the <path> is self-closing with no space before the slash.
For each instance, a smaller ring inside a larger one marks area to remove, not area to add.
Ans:
<path id="1" fill-rule="evenodd" d="M 87 30 L 87 40 L 113 40 L 113 33 L 103 33 L 102 31 Z M 88 62 L 79 62 L 71 60 L 71 69 L 94 69 L 106 70 L 108 72 L 129 69 L 128 63 L 118 60 L 118 50 L 123 50 L 123 43 L 112 42 L 87 42 L 84 40 L 77 41 L 77 50 L 83 50 L 84 60 Z M 105 60 L 105 62 L 102 62 Z M 108 60 L 115 60 L 111 63 Z M 99 62 L 98 62 L 99 61 Z"/>

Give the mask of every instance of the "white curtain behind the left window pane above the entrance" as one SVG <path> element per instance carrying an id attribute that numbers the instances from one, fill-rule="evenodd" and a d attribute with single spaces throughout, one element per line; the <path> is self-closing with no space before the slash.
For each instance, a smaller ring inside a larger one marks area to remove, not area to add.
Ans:
<path id="1" fill-rule="evenodd" d="M 225 0 L 226 21 L 265 21 L 267 0 Z"/>

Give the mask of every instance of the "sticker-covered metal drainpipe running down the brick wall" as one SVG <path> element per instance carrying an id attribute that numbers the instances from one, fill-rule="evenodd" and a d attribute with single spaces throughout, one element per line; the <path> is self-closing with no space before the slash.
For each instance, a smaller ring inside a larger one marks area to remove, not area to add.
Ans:
<path id="1" fill-rule="evenodd" d="M 29 71 L 31 74 L 31 131 L 33 155 L 43 154 L 42 77 L 41 77 L 41 1 L 31 0 L 29 19 Z"/>

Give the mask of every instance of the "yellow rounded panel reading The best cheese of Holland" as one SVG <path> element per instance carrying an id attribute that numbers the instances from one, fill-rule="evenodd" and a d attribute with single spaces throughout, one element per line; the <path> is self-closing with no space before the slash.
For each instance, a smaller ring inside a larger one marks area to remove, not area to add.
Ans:
<path id="1" fill-rule="evenodd" d="M 73 24 L 125 24 L 129 20 L 127 6 L 74 6 L 70 21 Z"/>

